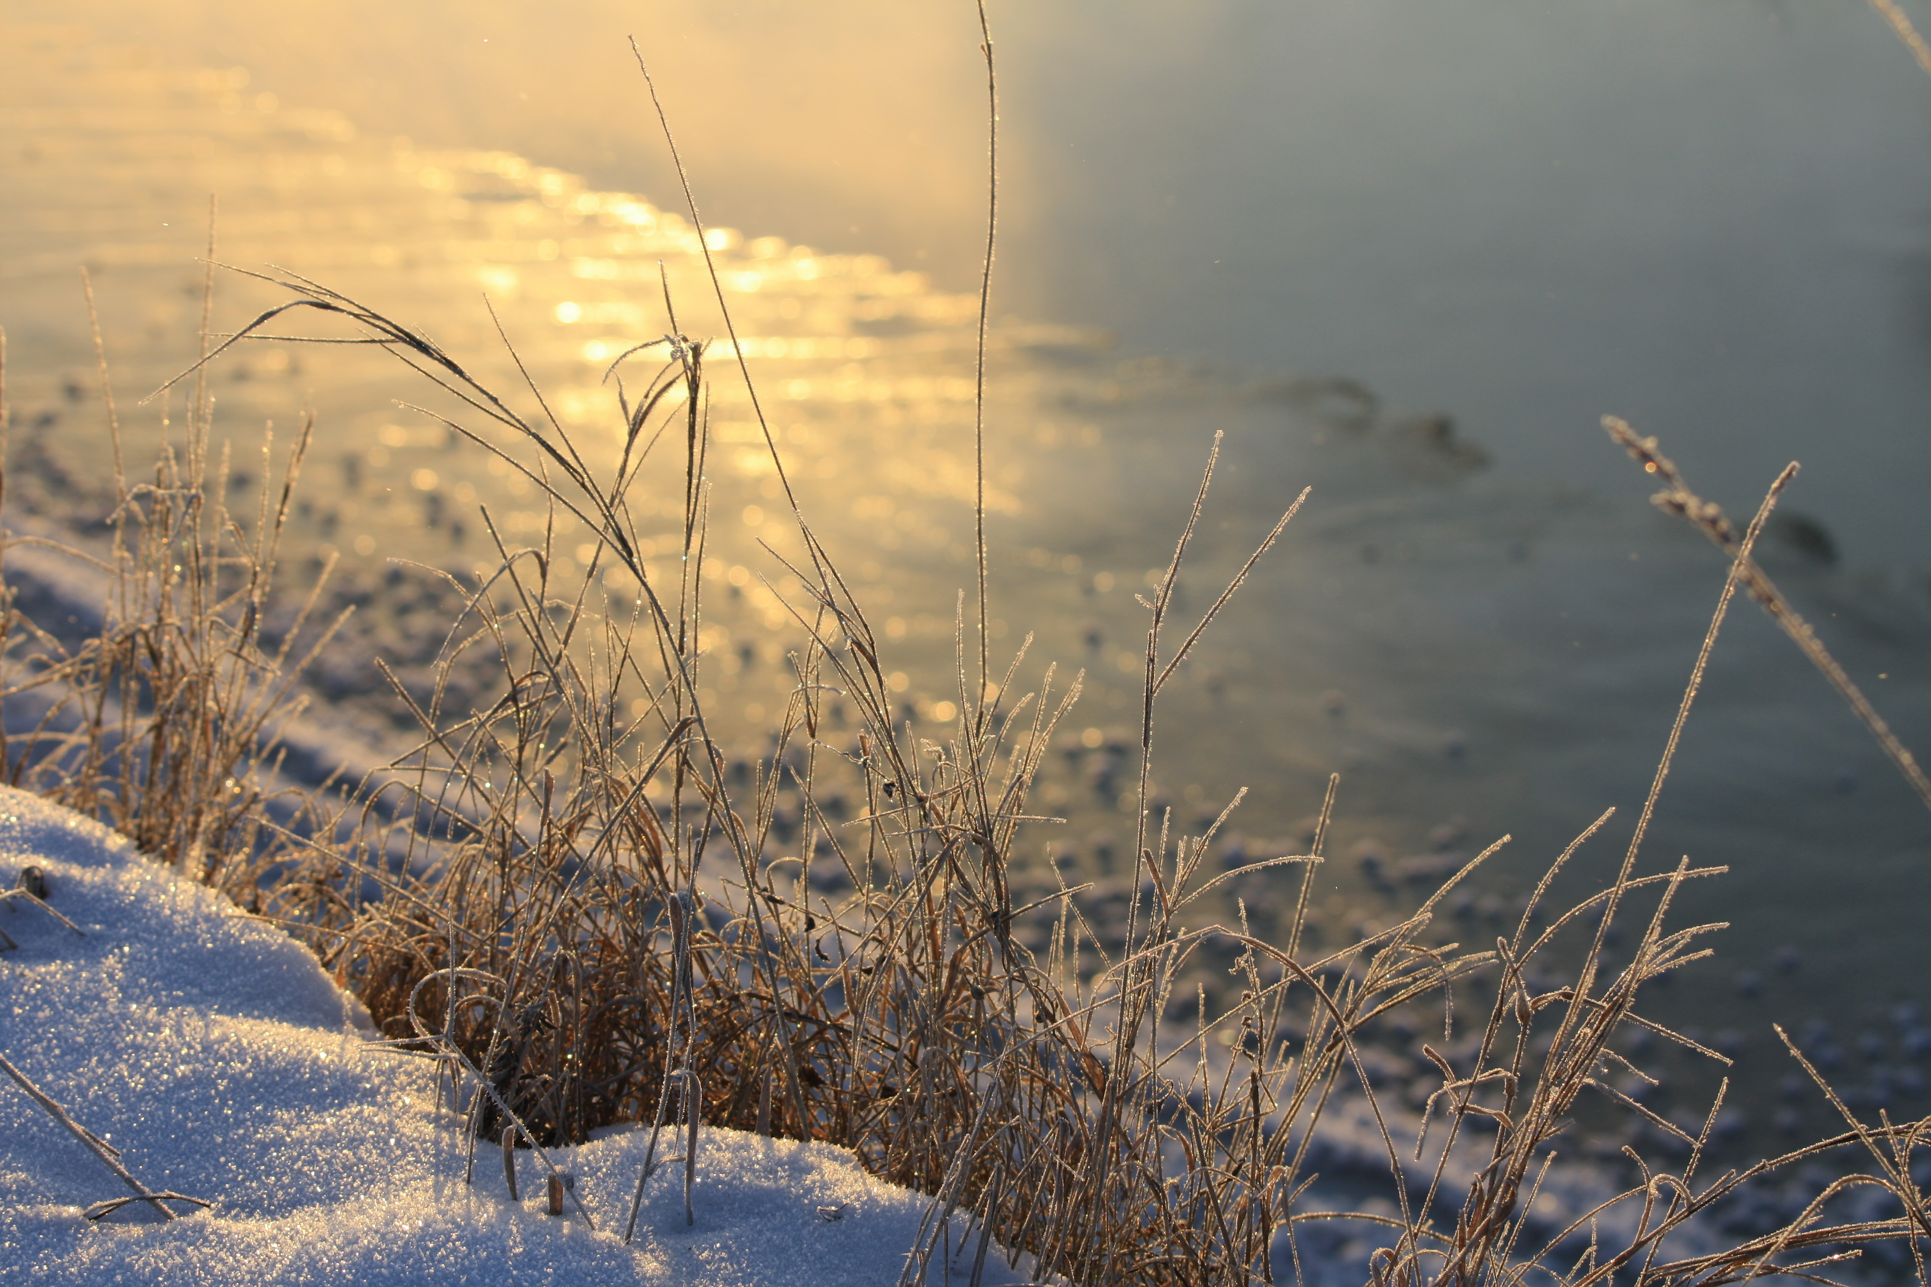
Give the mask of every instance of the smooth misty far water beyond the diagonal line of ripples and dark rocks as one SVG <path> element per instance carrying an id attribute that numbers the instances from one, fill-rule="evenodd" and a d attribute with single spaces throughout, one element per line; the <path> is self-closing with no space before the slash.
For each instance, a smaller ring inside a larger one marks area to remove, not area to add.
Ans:
<path id="1" fill-rule="evenodd" d="M 10 12 L 249 68 L 367 131 L 668 199 L 637 35 L 718 222 L 956 289 L 977 268 L 969 6 Z M 1354 374 L 1541 477 L 1601 477 L 1605 409 L 1738 506 L 1805 457 L 1802 504 L 1846 554 L 1925 552 L 1906 515 L 1931 471 L 1931 122 L 1921 73 L 1856 0 L 994 17 L 1008 311 L 1137 353 Z"/>

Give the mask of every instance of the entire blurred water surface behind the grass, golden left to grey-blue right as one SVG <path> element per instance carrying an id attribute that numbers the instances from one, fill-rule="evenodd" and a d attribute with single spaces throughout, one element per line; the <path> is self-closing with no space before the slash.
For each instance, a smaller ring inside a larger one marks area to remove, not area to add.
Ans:
<path id="1" fill-rule="evenodd" d="M 1164 563 L 1217 428 L 1186 606 L 1315 494 L 1174 689 L 1159 797 L 1193 824 L 1253 787 L 1226 853 L 1290 853 L 1340 770 L 1336 934 L 1510 832 L 1456 907 L 1483 942 L 1597 812 L 1634 818 L 1722 565 L 1649 511 L 1603 413 L 1661 434 L 1738 519 L 1804 461 L 1786 500 L 1802 521 L 1765 561 L 1906 743 L 1931 747 L 1931 81 L 1865 6 L 993 15 L 994 633 L 1010 648 L 1039 631 L 1035 660 L 1089 671 L 1043 791 L 1070 822 L 1041 849 L 1128 866 L 1132 590 Z M 98 502 L 73 266 L 95 272 L 122 386 L 153 388 L 191 357 L 210 191 L 222 259 L 359 293 L 508 378 L 489 291 L 593 434 L 602 365 L 668 324 L 658 259 L 686 328 L 716 328 L 666 214 L 637 35 L 707 222 L 742 230 L 718 251 L 807 513 L 904 648 L 908 706 L 944 718 L 983 237 L 969 6 L 12 0 L 4 21 L 0 324 L 15 461 L 41 479 L 10 504 L 71 523 Z M 222 291 L 228 324 L 274 297 Z M 301 523 L 371 596 L 369 643 L 421 650 L 442 610 L 386 556 L 467 571 L 487 554 L 477 500 L 512 534 L 543 525 L 400 411 L 421 392 L 369 357 L 259 345 L 220 378 L 238 442 L 319 411 Z M 716 687 L 749 735 L 786 683 L 753 639 L 784 619 L 757 581 L 782 590 L 782 569 L 753 538 L 786 538 L 745 409 L 720 399 L 713 561 L 734 608 Z M 346 706 L 380 700 L 373 671 L 324 679 Z M 1576 890 L 1612 870 L 1618 835 L 1585 851 Z M 1931 814 L 1861 727 L 1740 608 L 1651 863 L 1736 868 L 1686 895 L 1684 917 L 1734 928 L 1661 1005 L 1763 1069 L 1742 1079 L 1761 1088 L 1753 1123 L 1825 1125 L 1777 1094 L 1773 1019 L 1827 1025 L 1811 1044 L 1846 1084 L 1923 1111 L 1927 841 Z M 1274 886 L 1245 895 L 1278 911 Z"/>

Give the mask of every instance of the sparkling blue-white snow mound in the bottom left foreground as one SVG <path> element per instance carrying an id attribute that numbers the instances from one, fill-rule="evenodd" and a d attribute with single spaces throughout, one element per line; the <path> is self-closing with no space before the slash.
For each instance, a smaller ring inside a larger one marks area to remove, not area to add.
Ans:
<path id="1" fill-rule="evenodd" d="M 0 886 L 27 864 L 85 938 L 25 899 L 0 911 L 19 944 L 0 955 L 0 1054 L 151 1191 L 212 1206 L 176 1202 L 166 1223 L 143 1202 L 85 1219 L 127 1191 L 0 1079 L 8 1281 L 886 1285 L 917 1239 L 927 1198 L 844 1150 L 736 1131 L 701 1135 L 695 1225 L 682 1167 L 664 1167 L 630 1246 L 645 1131 L 552 1150 L 595 1231 L 548 1216 L 527 1150 L 521 1202 L 494 1150 L 477 1152 L 465 1185 L 465 1136 L 434 1106 L 429 1065 L 369 1048 L 359 1005 L 299 944 L 106 828 L 0 787 Z M 950 1270 L 964 1283 L 975 1250 L 958 1235 L 929 1281 Z M 996 1248 L 985 1268 L 987 1283 L 1025 1281 Z"/>

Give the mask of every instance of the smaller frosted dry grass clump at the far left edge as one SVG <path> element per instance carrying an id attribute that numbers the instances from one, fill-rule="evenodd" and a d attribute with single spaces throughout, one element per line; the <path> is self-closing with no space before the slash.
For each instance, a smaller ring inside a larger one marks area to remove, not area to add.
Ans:
<path id="1" fill-rule="evenodd" d="M 205 295 L 203 332 L 212 280 Z M 87 299 L 91 313 L 91 288 Z M 95 342 L 98 349 L 98 328 Z M 209 455 L 212 403 L 203 380 L 187 399 L 180 444 L 147 479 L 122 469 L 104 353 L 100 392 L 114 446 L 110 542 L 98 556 L 70 554 L 104 573 L 108 602 L 98 633 L 70 644 L 29 621 L 15 590 L 4 590 L 0 658 L 10 670 L 0 698 L 15 712 L 23 698 L 35 710 L 31 726 L 0 727 L 8 781 L 100 818 L 253 907 L 265 872 L 288 855 L 286 832 L 328 830 L 315 799 L 272 785 L 280 729 L 307 700 L 301 671 L 334 633 L 334 625 L 309 629 L 322 585 L 278 639 L 263 629 L 311 424 L 280 465 L 265 434 L 263 477 L 280 473 L 280 486 L 265 486 L 257 511 L 241 515 L 226 504 L 226 452 Z"/>

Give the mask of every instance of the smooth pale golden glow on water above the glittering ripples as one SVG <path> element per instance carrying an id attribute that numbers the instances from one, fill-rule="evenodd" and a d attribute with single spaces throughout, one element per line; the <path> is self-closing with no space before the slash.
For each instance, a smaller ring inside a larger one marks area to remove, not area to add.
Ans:
<path id="1" fill-rule="evenodd" d="M 214 68 L 203 75 L 249 112 L 336 106 L 425 151 L 506 149 L 502 178 L 539 191 L 558 179 L 525 156 L 591 187 L 670 193 L 628 44 L 637 37 L 720 224 L 838 251 L 888 249 L 958 286 L 973 272 L 985 125 L 979 71 L 958 56 L 979 39 L 969 6 L 10 0 L 8 17 L 85 25 L 174 66 Z M 446 191 L 438 185 L 454 176 L 429 166 L 421 181 Z M 649 224 L 622 197 L 572 199 L 583 212 Z M 732 233 L 716 237 L 713 249 L 736 249 Z M 763 235 L 749 259 L 786 249 Z"/>

